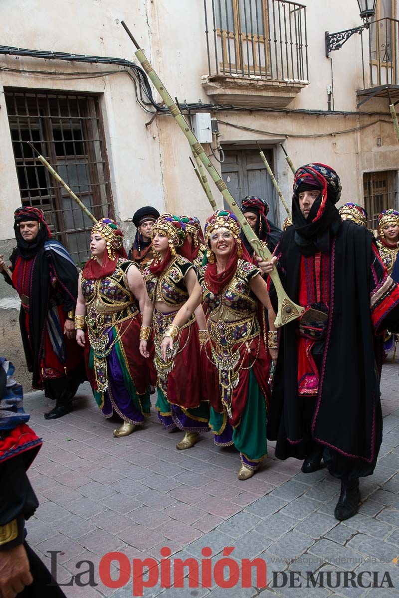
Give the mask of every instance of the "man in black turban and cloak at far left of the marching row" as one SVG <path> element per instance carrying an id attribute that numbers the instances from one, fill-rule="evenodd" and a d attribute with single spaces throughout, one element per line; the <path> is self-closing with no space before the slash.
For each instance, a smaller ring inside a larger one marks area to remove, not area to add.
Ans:
<path id="1" fill-rule="evenodd" d="M 83 350 L 75 342 L 78 271 L 65 247 L 50 238 L 41 210 L 18 208 L 14 220 L 12 282 L 1 258 L 0 271 L 21 299 L 19 324 L 32 387 L 56 401 L 44 415 L 56 419 L 72 410 L 72 398 L 86 379 Z"/>

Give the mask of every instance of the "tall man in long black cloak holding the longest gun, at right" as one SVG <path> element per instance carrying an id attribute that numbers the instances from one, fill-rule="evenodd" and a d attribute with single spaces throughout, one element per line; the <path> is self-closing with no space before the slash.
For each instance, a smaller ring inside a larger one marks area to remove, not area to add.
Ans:
<path id="1" fill-rule="evenodd" d="M 330 167 L 297 170 L 293 226 L 259 266 L 277 264 L 285 291 L 306 308 L 281 329 L 268 437 L 278 459 L 304 459 L 305 473 L 324 460 L 341 480 L 334 515 L 344 520 L 358 511 L 359 478 L 373 473 L 382 441 L 383 331 L 399 329 L 399 287 L 370 231 L 342 222 L 340 192 Z M 271 281 L 270 291 L 273 300 Z"/>

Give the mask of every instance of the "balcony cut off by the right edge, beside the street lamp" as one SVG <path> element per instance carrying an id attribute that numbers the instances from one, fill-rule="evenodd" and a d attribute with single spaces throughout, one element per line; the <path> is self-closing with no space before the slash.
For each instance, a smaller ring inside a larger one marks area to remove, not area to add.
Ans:
<path id="1" fill-rule="evenodd" d="M 358 107 L 371 97 L 399 100 L 399 20 L 378 19 L 370 23 L 368 48 L 361 39 L 363 88 L 358 90 Z"/>

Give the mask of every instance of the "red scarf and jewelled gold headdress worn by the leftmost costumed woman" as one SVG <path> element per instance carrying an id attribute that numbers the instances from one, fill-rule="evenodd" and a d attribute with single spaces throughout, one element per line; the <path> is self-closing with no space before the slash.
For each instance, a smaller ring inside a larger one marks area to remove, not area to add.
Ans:
<path id="1" fill-rule="evenodd" d="M 90 258 L 84 265 L 83 278 L 98 280 L 114 273 L 118 258 L 126 258 L 123 247 L 123 233 L 117 223 L 111 218 L 102 218 L 92 228 L 92 234 L 99 234 L 106 241 L 106 251 L 103 253 L 102 264 L 96 258 Z"/>

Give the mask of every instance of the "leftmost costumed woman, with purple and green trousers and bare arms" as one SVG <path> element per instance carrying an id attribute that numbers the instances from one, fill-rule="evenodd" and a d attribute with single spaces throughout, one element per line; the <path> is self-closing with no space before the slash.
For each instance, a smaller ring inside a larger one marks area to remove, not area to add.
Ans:
<path id="1" fill-rule="evenodd" d="M 79 280 L 77 341 L 85 348 L 87 374 L 103 416 L 120 416 L 123 425 L 114 436 L 127 436 L 150 415 L 150 374 L 138 350 L 145 284 L 136 264 L 127 260 L 113 220 L 102 218 L 93 227 L 90 249 Z"/>

